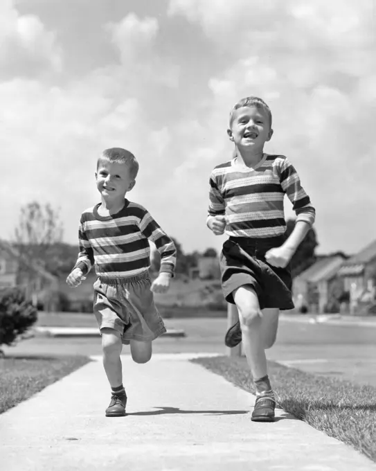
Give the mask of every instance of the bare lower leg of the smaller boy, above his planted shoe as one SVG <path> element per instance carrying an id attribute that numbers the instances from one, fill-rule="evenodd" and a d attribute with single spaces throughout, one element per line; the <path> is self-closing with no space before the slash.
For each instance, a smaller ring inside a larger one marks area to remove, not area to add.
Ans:
<path id="1" fill-rule="evenodd" d="M 120 353 L 123 349 L 121 343 L 120 332 L 111 328 L 103 328 L 102 334 L 102 351 L 103 366 L 112 388 L 116 388 L 123 384 L 123 372 L 121 369 Z"/>

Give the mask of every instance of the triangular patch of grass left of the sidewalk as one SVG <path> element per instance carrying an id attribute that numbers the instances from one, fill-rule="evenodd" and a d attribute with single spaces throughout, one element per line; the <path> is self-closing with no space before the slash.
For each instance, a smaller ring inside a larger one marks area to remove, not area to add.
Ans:
<path id="1" fill-rule="evenodd" d="M 87 362 L 87 357 L 0 358 L 0 414 Z"/>

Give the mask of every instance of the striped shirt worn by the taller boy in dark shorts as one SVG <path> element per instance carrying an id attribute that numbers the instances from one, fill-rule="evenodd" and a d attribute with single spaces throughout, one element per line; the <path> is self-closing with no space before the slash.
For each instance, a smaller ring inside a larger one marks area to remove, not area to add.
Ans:
<path id="1" fill-rule="evenodd" d="M 285 195 L 292 202 L 296 221 L 312 225 L 314 207 L 286 157 L 264 154 L 253 168 L 237 166 L 235 158 L 211 172 L 208 215 L 225 215 L 228 236 L 280 236 L 286 231 Z"/>

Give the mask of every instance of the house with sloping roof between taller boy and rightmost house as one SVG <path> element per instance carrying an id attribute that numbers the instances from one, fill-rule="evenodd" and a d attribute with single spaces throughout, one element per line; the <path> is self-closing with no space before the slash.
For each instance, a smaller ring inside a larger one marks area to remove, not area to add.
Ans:
<path id="1" fill-rule="evenodd" d="M 328 312 L 331 303 L 343 292 L 343 280 L 337 276 L 346 260 L 340 254 L 319 258 L 292 281 L 292 295 L 299 311 Z"/>

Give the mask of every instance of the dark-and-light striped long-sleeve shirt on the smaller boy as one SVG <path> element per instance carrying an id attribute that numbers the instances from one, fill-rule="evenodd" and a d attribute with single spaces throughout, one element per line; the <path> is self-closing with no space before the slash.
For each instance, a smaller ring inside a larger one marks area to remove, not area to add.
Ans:
<path id="1" fill-rule="evenodd" d="M 141 204 L 125 199 L 115 215 L 101 216 L 97 204 L 81 215 L 80 254 L 75 268 L 84 274 L 95 266 L 103 278 L 122 278 L 147 272 L 150 267 L 149 240 L 161 254 L 161 269 L 174 275 L 176 247 L 150 213 Z"/>

